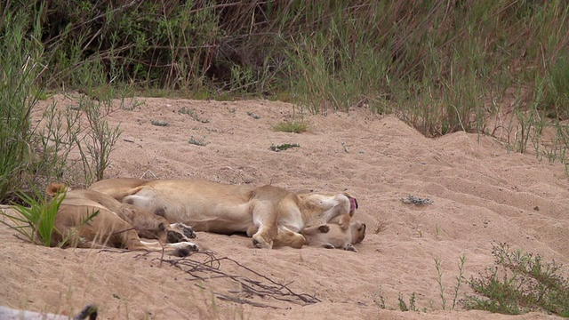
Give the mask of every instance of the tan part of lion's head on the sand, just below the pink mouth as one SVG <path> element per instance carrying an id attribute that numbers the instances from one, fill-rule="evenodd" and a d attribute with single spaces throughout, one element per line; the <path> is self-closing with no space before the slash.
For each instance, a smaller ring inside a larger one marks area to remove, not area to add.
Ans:
<path id="1" fill-rule="evenodd" d="M 361 243 L 365 238 L 365 223 L 351 221 L 349 228 L 343 229 L 339 224 L 329 223 L 302 229 L 306 244 L 322 245 L 326 249 L 344 249 L 357 252 L 353 244 Z"/>

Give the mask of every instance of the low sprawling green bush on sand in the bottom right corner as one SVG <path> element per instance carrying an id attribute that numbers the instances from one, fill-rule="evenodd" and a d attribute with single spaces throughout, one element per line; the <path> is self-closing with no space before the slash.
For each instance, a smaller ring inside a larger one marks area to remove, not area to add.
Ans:
<path id="1" fill-rule="evenodd" d="M 569 317 L 569 281 L 558 275 L 561 265 L 533 253 L 511 251 L 503 243 L 493 244 L 492 253 L 495 266 L 469 280 L 477 295 L 461 300 L 465 308 L 506 315 L 541 310 Z"/>

